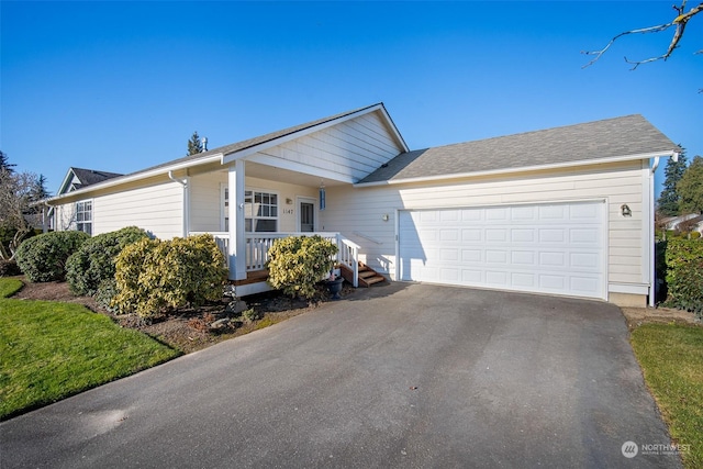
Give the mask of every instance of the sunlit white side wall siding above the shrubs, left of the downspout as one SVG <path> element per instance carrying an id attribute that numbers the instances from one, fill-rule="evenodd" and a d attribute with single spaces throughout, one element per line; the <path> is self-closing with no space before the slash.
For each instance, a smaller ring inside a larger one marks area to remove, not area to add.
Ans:
<path id="1" fill-rule="evenodd" d="M 93 199 L 93 234 L 138 226 L 163 239 L 183 235 L 183 188 L 166 182 Z"/>

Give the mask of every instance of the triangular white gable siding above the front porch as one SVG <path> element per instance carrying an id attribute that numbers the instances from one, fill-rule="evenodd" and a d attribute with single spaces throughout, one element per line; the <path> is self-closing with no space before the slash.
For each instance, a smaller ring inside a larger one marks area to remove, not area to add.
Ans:
<path id="1" fill-rule="evenodd" d="M 269 166 L 356 182 L 400 153 L 377 113 L 264 149 L 248 159 Z"/>

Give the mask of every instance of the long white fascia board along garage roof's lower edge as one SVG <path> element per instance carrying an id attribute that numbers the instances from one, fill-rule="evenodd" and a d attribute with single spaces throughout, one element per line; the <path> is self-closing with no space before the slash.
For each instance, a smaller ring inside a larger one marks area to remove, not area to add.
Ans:
<path id="1" fill-rule="evenodd" d="M 511 175 L 515 172 L 525 172 L 525 171 L 561 169 L 561 168 L 569 168 L 573 166 L 606 165 L 609 163 L 622 163 L 622 161 L 634 161 L 638 159 L 650 159 L 657 156 L 673 156 L 674 153 L 676 152 L 673 150 L 643 153 L 643 154 L 636 154 L 636 155 L 614 156 L 610 158 L 582 159 L 578 161 L 555 163 L 554 165 L 522 166 L 520 168 L 492 169 L 488 171 L 457 172 L 456 175 L 423 176 L 417 178 L 405 178 L 405 179 L 384 180 L 384 181 L 376 181 L 376 182 L 359 182 L 354 185 L 354 187 L 389 186 L 389 185 L 402 185 L 402 183 L 412 183 L 412 182 L 434 182 L 434 181 L 450 180 L 450 179 L 477 178 L 481 176 L 501 176 L 501 175 Z"/>

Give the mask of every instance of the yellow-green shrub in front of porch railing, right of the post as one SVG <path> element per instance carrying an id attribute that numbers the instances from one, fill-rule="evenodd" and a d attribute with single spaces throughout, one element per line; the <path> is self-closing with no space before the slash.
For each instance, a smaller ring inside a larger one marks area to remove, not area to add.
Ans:
<path id="1" fill-rule="evenodd" d="M 291 297 L 311 299 L 315 283 L 334 266 L 337 246 L 320 235 L 276 239 L 268 250 L 268 283 Z"/>

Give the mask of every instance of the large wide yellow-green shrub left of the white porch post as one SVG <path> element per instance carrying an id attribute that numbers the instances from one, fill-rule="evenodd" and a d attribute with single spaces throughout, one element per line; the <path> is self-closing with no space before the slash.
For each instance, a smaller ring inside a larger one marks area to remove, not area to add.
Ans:
<path id="1" fill-rule="evenodd" d="M 224 255 L 211 235 L 141 239 L 122 249 L 115 267 L 112 306 L 142 317 L 220 300 L 227 279 Z"/>

